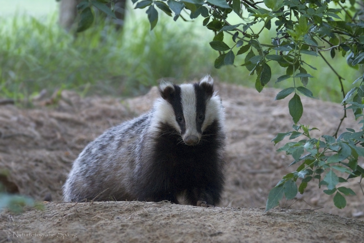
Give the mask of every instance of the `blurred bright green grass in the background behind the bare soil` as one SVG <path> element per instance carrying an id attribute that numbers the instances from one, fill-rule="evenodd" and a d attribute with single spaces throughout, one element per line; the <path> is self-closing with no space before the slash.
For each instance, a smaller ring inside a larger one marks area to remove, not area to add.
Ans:
<path id="1" fill-rule="evenodd" d="M 160 14 L 157 27 L 150 31 L 144 9 L 132 10 L 124 30 L 98 21 L 76 38 L 57 25 L 57 14 L 33 17 L 0 17 L 0 97 L 24 99 L 47 89 L 74 89 L 82 94 L 136 95 L 145 93 L 161 78 L 174 82 L 190 81 L 211 74 L 218 81 L 254 87 L 256 75 L 249 76 L 245 54 L 237 56 L 235 65 L 215 69 L 218 53 L 209 46 L 213 32 L 202 26 L 202 19 L 174 22 Z M 272 32 L 262 42 L 270 42 Z M 231 43 L 228 35 L 224 41 Z M 237 51 L 237 50 L 235 50 Z M 345 78 L 345 91 L 359 77 L 337 54 L 327 57 Z M 340 85 L 335 74 L 321 58 L 306 56 L 317 67 L 306 70 L 315 78 L 308 88 L 315 97 L 341 102 Z M 274 84 L 285 70 L 270 62 L 272 80 L 269 87 L 293 86 L 293 80 Z M 297 81 L 297 80 L 296 80 Z M 300 81 L 296 83 L 300 86 Z"/>

